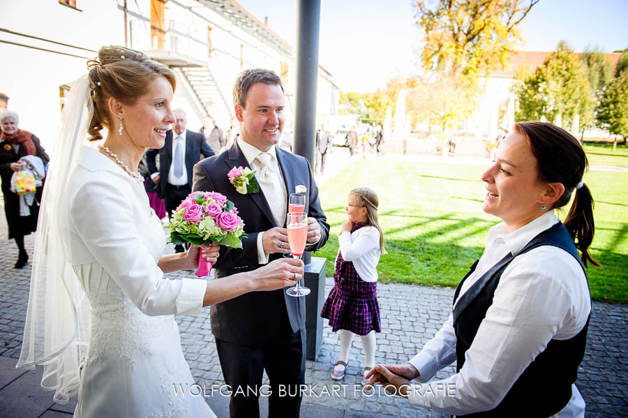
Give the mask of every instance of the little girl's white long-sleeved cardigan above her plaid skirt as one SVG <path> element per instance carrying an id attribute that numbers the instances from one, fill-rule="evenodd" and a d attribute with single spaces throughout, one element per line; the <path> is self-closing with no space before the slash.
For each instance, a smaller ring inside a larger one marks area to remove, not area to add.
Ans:
<path id="1" fill-rule="evenodd" d="M 354 232 L 338 235 L 343 260 L 353 262 L 355 271 L 366 282 L 377 281 L 377 263 L 380 262 L 380 231 L 374 226 L 364 226 Z"/>

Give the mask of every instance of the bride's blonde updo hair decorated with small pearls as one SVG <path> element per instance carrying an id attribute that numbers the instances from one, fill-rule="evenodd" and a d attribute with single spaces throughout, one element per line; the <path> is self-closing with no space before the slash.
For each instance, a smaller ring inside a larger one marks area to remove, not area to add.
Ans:
<path id="1" fill-rule="evenodd" d="M 94 102 L 94 117 L 91 118 L 87 133 L 90 141 L 103 139 L 100 130 L 111 129 L 112 117 L 109 98 L 115 98 L 124 105 L 133 105 L 137 98 L 146 94 L 149 83 L 163 75 L 177 87 L 174 72 L 167 66 L 149 59 L 142 52 L 125 47 L 101 47 L 98 60 L 88 61 L 89 87 Z"/>

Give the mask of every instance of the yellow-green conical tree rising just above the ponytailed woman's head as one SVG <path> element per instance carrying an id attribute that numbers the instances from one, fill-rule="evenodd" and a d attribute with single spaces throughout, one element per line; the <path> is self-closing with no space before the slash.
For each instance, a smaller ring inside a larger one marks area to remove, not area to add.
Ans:
<path id="1" fill-rule="evenodd" d="M 581 120 L 587 121 L 595 105 L 583 65 L 564 41 L 532 76 L 519 84 L 516 94 L 518 120 L 539 120 L 545 116 L 549 121 L 560 119 L 566 125 L 579 114 Z"/>

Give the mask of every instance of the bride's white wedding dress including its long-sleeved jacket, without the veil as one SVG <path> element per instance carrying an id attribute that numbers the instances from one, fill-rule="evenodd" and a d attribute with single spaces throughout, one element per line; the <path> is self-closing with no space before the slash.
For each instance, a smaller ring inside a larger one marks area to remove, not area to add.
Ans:
<path id="1" fill-rule="evenodd" d="M 163 278 L 165 232 L 143 186 L 98 151 L 81 152 L 70 180 L 70 253 L 91 326 L 75 417 L 215 417 L 202 393 L 190 395 L 179 328 L 167 315 L 200 313 L 206 283 Z M 185 395 L 175 394 L 179 385 Z"/>

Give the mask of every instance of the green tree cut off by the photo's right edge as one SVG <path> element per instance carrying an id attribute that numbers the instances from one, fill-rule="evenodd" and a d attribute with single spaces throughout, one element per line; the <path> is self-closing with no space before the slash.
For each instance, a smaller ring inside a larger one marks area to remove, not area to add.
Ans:
<path id="1" fill-rule="evenodd" d="M 620 73 L 604 92 L 597 107 L 597 123 L 611 134 L 628 137 L 628 71 Z"/>

